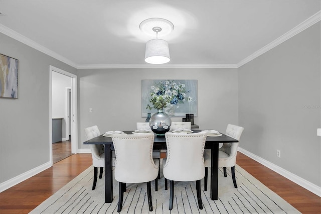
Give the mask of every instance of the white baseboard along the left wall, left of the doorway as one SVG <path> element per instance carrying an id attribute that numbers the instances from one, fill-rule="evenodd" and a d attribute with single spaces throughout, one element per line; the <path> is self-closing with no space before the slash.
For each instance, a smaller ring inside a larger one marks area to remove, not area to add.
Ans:
<path id="1" fill-rule="evenodd" d="M 5 191 L 6 189 L 9 189 L 10 187 L 13 187 L 14 185 L 17 185 L 18 183 L 27 180 L 28 178 L 50 168 L 52 166 L 52 164 L 50 164 L 50 162 L 47 162 L 41 166 L 38 166 L 32 170 L 29 170 L 28 172 L 22 173 L 10 180 L 7 180 L 3 183 L 0 183 L 0 192 Z"/>

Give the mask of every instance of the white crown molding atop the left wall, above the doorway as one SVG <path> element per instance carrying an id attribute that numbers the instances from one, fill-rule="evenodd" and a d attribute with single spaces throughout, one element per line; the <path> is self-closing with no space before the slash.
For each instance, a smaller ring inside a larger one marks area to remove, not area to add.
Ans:
<path id="1" fill-rule="evenodd" d="M 53 52 L 52 50 L 50 50 L 50 49 L 48 49 L 48 48 L 36 43 L 35 41 L 33 41 L 33 40 L 21 35 L 20 33 L 14 31 L 14 30 L 12 30 L 12 29 L 10 29 L 10 28 L 2 25 L 2 24 L 0 24 L 0 32 L 5 34 L 5 35 L 7 35 L 7 36 L 9 36 L 9 37 L 11 37 L 11 38 L 13 38 L 13 39 L 15 39 L 15 40 L 18 40 L 19 42 L 24 43 L 25 45 L 28 45 L 28 46 L 38 50 L 40 52 L 43 52 L 43 53 L 47 54 L 48 56 L 51 56 L 51 57 L 53 57 L 53 58 L 55 58 L 55 59 L 57 59 L 57 60 L 59 60 L 61 62 L 64 62 L 64 63 L 66 63 L 66 64 L 68 64 L 68 65 L 70 65 L 70 66 L 72 66 L 74 68 L 77 68 L 77 64 L 72 62 L 71 60 L 69 60 L 69 59 L 57 54 L 56 52 Z"/>

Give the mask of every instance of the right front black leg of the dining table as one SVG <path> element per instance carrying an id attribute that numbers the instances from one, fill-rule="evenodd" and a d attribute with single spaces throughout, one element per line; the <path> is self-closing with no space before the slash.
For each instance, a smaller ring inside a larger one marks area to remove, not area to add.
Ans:
<path id="1" fill-rule="evenodd" d="M 213 143 L 211 148 L 211 199 L 218 199 L 219 144 Z"/>

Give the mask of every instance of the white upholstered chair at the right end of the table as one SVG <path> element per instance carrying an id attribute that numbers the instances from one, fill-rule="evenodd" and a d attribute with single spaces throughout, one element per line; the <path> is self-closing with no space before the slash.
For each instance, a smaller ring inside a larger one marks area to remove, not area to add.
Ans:
<path id="1" fill-rule="evenodd" d="M 225 134 L 240 140 L 241 134 L 244 128 L 232 124 L 228 124 Z M 219 167 L 223 167 L 224 177 L 226 177 L 226 167 L 231 167 L 231 174 L 234 187 L 237 188 L 235 180 L 235 164 L 236 164 L 236 155 L 237 148 L 239 143 L 223 143 L 223 146 L 219 149 Z M 205 178 L 204 178 L 204 189 L 207 190 L 207 172 L 208 167 L 211 167 L 211 150 L 206 149 L 204 151 L 204 160 L 205 160 Z"/>

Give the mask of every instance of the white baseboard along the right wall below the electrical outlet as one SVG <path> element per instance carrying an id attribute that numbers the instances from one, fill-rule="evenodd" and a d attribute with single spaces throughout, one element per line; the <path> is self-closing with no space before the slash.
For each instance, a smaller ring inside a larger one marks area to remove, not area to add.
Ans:
<path id="1" fill-rule="evenodd" d="M 283 168 L 281 168 L 281 167 L 279 167 L 279 166 L 277 166 L 277 165 L 275 165 L 275 164 L 273 164 L 273 163 L 271 163 L 271 162 L 269 162 L 269 161 L 257 156 L 257 155 L 254 155 L 253 153 L 251 153 L 251 152 L 249 152 L 249 151 L 247 151 L 245 149 L 242 149 L 242 148 L 239 147 L 238 151 L 243 153 L 244 155 L 252 158 L 253 160 L 259 162 L 260 164 L 266 166 L 267 168 L 273 170 L 274 172 L 282 175 L 283 177 L 285 177 L 285 178 L 293 181 L 294 183 L 302 186 L 303 188 L 309 190 L 310 192 L 316 194 L 317 196 L 321 197 L 321 187 L 320 186 L 317 186 L 317 185 L 315 185 L 315 184 L 313 184 L 313 183 L 311 183 L 311 182 L 309 182 L 309 181 L 307 181 L 307 180 L 305 180 L 305 179 L 303 179 L 303 178 L 301 178 L 301 177 L 299 177 L 299 176 L 297 176 L 297 175 L 295 175 L 295 174 L 293 174 L 293 173 L 291 173 L 291 172 L 289 172 L 289 171 L 287 171 L 287 170 L 285 170 L 285 169 L 283 169 Z"/>

